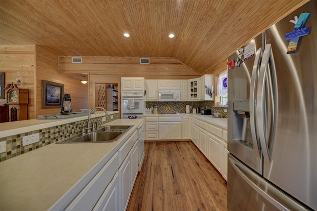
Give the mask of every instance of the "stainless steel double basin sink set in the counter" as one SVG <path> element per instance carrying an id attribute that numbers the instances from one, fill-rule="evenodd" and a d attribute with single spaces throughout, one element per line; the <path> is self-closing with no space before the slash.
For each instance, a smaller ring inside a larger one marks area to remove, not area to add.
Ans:
<path id="1" fill-rule="evenodd" d="M 132 126 L 104 126 L 86 134 L 74 135 L 56 144 L 116 142 Z"/>

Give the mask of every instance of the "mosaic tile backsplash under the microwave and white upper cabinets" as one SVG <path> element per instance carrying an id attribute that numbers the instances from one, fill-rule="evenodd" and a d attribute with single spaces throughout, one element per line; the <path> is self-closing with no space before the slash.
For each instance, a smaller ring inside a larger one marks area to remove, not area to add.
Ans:
<path id="1" fill-rule="evenodd" d="M 228 113 L 224 112 L 224 107 L 214 107 L 213 101 L 181 101 L 181 102 L 146 102 L 146 107 L 150 108 L 153 105 L 158 106 L 158 114 L 175 114 L 185 113 L 186 105 L 190 105 L 192 108 L 203 107 L 211 109 L 211 114 L 220 113 L 223 118 L 228 118 Z M 190 110 L 192 113 L 192 110 Z"/>

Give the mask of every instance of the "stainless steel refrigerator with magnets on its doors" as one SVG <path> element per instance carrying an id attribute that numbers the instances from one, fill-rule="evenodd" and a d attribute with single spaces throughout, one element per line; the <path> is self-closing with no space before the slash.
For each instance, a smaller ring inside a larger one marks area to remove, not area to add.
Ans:
<path id="1" fill-rule="evenodd" d="M 229 211 L 317 210 L 317 1 L 228 61 Z"/>

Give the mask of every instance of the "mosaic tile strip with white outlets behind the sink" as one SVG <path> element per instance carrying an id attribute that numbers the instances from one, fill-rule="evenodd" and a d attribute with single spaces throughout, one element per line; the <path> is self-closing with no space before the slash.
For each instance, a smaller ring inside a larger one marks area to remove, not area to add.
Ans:
<path id="1" fill-rule="evenodd" d="M 113 115 L 113 119 L 110 119 L 110 115 L 106 117 L 106 121 L 102 122 L 102 117 L 92 118 L 91 121 L 100 121 L 101 125 L 112 122 L 118 119 L 118 114 Z M 6 141 L 6 152 L 0 154 L 0 162 L 5 161 L 10 158 L 22 155 L 24 153 L 36 150 L 38 148 L 44 147 L 46 145 L 55 143 L 62 139 L 68 138 L 75 134 L 81 133 L 82 128 L 87 127 L 88 120 L 82 120 L 78 122 L 68 123 L 64 125 L 48 127 L 44 129 L 34 130 L 30 132 L 25 132 L 17 135 L 7 136 L 0 138 L 0 141 Z M 22 137 L 26 135 L 32 135 L 40 133 L 40 141 L 22 146 Z"/>

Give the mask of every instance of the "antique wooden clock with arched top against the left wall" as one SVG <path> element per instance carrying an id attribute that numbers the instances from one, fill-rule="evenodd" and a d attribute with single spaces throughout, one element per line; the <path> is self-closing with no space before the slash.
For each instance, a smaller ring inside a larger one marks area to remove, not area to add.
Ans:
<path id="1" fill-rule="evenodd" d="M 29 90 L 18 88 L 16 84 L 8 84 L 6 103 L 9 105 L 9 121 L 28 119 Z"/>

